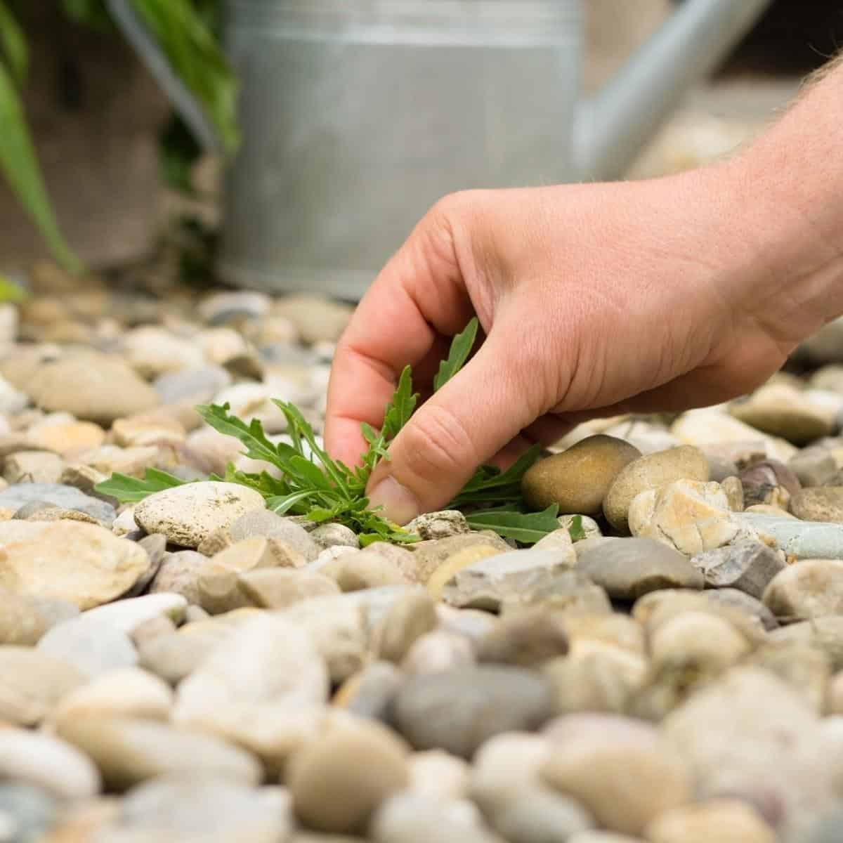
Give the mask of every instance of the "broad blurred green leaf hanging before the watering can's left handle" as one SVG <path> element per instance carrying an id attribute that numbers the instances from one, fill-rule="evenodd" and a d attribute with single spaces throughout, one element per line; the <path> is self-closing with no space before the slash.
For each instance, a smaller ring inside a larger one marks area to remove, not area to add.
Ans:
<path id="1" fill-rule="evenodd" d="M 203 13 L 190 0 L 132 0 L 132 8 L 200 101 L 226 152 L 234 153 L 239 144 L 237 83 Z"/>

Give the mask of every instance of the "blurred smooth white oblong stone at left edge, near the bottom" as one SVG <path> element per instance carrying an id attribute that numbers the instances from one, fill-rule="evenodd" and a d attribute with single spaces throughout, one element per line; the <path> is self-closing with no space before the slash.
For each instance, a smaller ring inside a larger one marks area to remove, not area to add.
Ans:
<path id="1" fill-rule="evenodd" d="M 24 729 L 0 729 L 0 780 L 37 787 L 58 799 L 99 793 L 99 771 L 78 749 Z"/>

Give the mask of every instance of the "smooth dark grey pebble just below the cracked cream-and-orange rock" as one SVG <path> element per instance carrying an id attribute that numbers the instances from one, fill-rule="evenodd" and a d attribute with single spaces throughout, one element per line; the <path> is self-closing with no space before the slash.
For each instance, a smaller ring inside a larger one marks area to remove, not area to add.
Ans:
<path id="1" fill-rule="evenodd" d="M 620 539 L 579 557 L 577 570 L 609 597 L 634 600 L 662 588 L 702 588 L 702 574 L 687 557 L 660 541 Z"/>

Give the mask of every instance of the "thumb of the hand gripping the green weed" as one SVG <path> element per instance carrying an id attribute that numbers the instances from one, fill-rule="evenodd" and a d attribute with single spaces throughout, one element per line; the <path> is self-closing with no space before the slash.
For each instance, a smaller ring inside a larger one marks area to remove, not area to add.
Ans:
<path id="1" fill-rule="evenodd" d="M 512 347 L 492 331 L 467 366 L 413 414 L 374 470 L 371 507 L 406 524 L 443 507 L 477 467 L 491 459 L 538 412 L 525 395 Z"/>

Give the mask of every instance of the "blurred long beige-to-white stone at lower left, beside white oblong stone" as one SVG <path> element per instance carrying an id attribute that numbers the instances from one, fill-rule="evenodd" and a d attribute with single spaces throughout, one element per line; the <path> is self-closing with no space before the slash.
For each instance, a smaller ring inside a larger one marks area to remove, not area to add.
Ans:
<path id="1" fill-rule="evenodd" d="M 242 749 L 211 735 L 187 732 L 151 720 L 84 717 L 59 724 L 59 737 L 81 749 L 99 767 L 105 786 L 123 791 L 156 776 L 205 776 L 256 785 L 260 765 Z"/>

